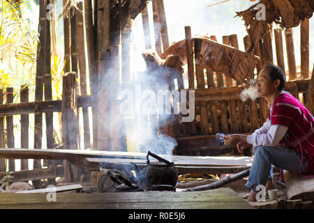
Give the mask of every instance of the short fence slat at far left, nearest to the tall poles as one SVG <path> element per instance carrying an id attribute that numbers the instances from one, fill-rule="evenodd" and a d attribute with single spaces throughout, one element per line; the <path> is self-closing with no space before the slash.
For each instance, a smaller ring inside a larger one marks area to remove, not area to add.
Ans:
<path id="1" fill-rule="evenodd" d="M 29 87 L 22 85 L 20 90 L 21 102 L 29 102 Z M 21 115 L 21 148 L 29 148 L 29 115 Z M 29 169 L 29 160 L 21 160 L 21 170 Z"/>

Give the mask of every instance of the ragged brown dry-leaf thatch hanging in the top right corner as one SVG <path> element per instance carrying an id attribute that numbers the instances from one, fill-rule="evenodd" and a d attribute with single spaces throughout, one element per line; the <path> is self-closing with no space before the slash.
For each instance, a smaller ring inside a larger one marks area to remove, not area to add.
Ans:
<path id="1" fill-rule="evenodd" d="M 256 20 L 257 4 L 263 3 L 266 8 L 266 20 Z M 310 18 L 314 11 L 314 0 L 261 0 L 247 10 L 237 12 L 246 24 L 248 35 L 253 43 L 248 49 L 251 52 L 255 43 L 263 38 L 267 26 L 275 22 L 283 29 L 298 26 L 301 20 Z"/>

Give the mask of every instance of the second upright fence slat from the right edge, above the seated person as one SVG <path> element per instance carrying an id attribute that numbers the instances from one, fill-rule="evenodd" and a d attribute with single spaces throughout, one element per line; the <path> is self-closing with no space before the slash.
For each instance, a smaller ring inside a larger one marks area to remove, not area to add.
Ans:
<path id="1" fill-rule="evenodd" d="M 289 68 L 289 81 L 297 79 L 297 66 L 294 58 L 294 44 L 292 29 L 285 29 L 285 45 L 287 48 L 287 62 Z"/>

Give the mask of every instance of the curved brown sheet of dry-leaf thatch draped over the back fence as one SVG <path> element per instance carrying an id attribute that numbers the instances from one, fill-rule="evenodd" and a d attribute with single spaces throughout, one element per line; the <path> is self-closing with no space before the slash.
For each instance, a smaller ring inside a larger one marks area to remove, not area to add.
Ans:
<path id="1" fill-rule="evenodd" d="M 242 52 L 239 49 L 209 40 L 207 37 L 192 38 L 200 44 L 200 61 L 195 61 L 200 68 L 225 73 L 230 77 L 244 82 L 244 79 L 252 78 L 258 57 Z M 186 63 L 186 40 L 174 43 L 160 56 L 161 59 L 169 55 L 180 56 Z"/>

